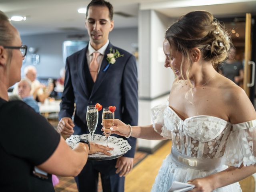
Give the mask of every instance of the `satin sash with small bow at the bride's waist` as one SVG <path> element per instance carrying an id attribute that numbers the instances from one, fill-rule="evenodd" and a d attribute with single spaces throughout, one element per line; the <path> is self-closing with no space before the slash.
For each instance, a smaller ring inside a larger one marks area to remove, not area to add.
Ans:
<path id="1" fill-rule="evenodd" d="M 217 170 L 218 167 L 222 166 L 222 158 L 211 159 L 190 157 L 177 152 L 173 148 L 171 158 L 182 166 L 197 170 L 211 171 Z"/>

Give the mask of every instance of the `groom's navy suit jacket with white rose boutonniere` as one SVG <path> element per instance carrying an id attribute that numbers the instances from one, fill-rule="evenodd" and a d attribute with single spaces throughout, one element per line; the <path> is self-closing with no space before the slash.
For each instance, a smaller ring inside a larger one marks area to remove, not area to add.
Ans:
<path id="1" fill-rule="evenodd" d="M 118 50 L 123 57 L 116 59 L 114 64 L 108 65 L 106 60 L 110 48 Z M 72 117 L 74 114 L 74 134 L 89 133 L 86 124 L 86 108 L 88 105 L 100 103 L 103 108 L 116 106 L 115 118 L 131 126 L 138 123 L 138 82 L 135 57 L 112 44 L 106 48 L 96 82 L 92 81 L 86 59 L 86 48 L 72 54 L 66 60 L 66 76 L 64 92 L 60 104 L 59 119 Z M 74 108 L 74 103 L 76 104 Z M 96 134 L 102 134 L 102 110 L 99 111 L 99 120 Z M 116 137 L 121 137 L 114 135 Z M 122 137 L 126 139 L 125 137 Z M 124 156 L 134 157 L 136 138 L 128 138 L 132 149 Z"/>

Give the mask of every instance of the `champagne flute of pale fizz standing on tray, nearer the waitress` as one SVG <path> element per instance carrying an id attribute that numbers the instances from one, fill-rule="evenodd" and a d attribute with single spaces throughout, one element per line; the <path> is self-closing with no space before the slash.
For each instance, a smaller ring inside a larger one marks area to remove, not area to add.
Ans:
<path id="1" fill-rule="evenodd" d="M 87 106 L 86 121 L 91 136 L 90 141 L 93 139 L 93 134 L 98 124 L 98 118 L 98 109 L 96 109 L 94 105 Z"/>

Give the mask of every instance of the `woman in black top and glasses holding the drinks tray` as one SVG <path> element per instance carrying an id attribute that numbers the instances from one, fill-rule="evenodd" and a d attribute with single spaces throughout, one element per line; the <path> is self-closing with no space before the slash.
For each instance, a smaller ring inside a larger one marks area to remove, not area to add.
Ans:
<path id="1" fill-rule="evenodd" d="M 106 150 L 112 148 L 79 142 L 71 150 L 44 117 L 22 101 L 8 102 L 7 90 L 20 81 L 26 49 L 0 11 L 0 190 L 51 192 L 51 174 L 76 176 L 88 154 L 110 155 Z M 35 166 L 46 172 L 44 179 L 35 174 Z"/>

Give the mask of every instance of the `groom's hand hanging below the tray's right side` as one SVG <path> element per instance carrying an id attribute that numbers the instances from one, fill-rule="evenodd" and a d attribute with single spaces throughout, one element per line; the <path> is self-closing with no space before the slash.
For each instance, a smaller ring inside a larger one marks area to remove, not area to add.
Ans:
<path id="1" fill-rule="evenodd" d="M 133 168 L 133 158 L 120 157 L 116 161 L 116 174 L 120 173 L 119 176 L 126 176 Z"/>

